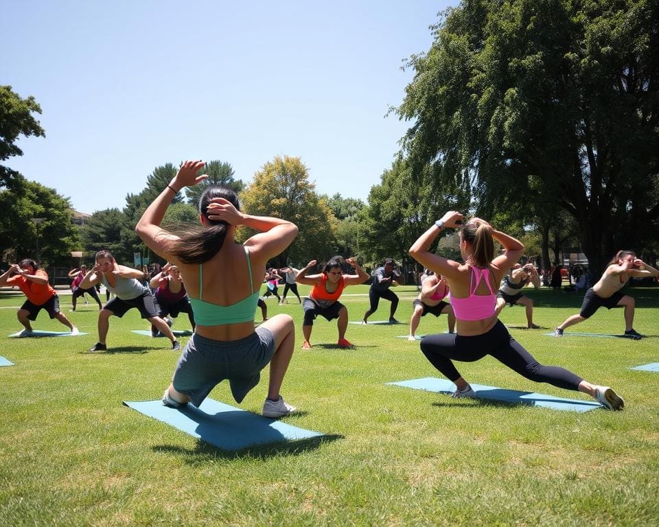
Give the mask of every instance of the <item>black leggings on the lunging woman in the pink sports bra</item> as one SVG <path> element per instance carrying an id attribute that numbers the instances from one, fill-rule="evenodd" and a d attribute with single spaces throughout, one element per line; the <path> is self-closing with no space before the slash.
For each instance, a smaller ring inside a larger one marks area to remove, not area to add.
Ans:
<path id="1" fill-rule="evenodd" d="M 547 382 L 558 388 L 578 390 L 583 381 L 571 371 L 559 366 L 544 366 L 533 358 L 522 345 L 511 337 L 500 320 L 492 329 L 474 337 L 461 337 L 451 333 L 428 335 L 421 340 L 421 351 L 432 366 L 455 382 L 461 377 L 451 362 L 474 362 L 492 355 L 511 370 L 534 382 Z"/>

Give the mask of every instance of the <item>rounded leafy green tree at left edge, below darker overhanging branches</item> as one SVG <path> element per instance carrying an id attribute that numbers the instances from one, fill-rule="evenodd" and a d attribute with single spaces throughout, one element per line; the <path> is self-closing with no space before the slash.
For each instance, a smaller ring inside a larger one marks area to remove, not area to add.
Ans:
<path id="1" fill-rule="evenodd" d="M 38 259 L 43 266 L 69 261 L 77 235 L 68 198 L 21 176 L 11 188 L 0 189 L 0 210 L 0 247 L 4 252 L 9 251 L 16 259 Z M 43 221 L 36 224 L 32 218 Z"/>

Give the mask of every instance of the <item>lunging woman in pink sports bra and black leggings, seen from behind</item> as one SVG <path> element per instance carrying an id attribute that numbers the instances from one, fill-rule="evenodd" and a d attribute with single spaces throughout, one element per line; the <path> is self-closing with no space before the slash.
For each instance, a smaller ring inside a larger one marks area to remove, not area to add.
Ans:
<path id="1" fill-rule="evenodd" d="M 430 363 L 455 383 L 452 397 L 475 397 L 476 393 L 455 368 L 452 360 L 474 362 L 492 355 L 513 371 L 534 382 L 546 382 L 566 390 L 591 395 L 605 408 L 622 410 L 625 402 L 612 388 L 590 384 L 559 366 L 544 366 L 517 342 L 495 314 L 498 283 L 518 261 L 524 246 L 517 239 L 492 229 L 480 218 L 472 218 L 461 229 L 460 252 L 465 261 L 435 255 L 430 246 L 445 228 L 456 228 L 463 215 L 449 211 L 422 234 L 410 255 L 422 266 L 442 274 L 450 287 L 456 318 L 456 334 L 429 335 L 421 340 L 421 351 Z M 494 241 L 505 249 L 495 257 Z"/>

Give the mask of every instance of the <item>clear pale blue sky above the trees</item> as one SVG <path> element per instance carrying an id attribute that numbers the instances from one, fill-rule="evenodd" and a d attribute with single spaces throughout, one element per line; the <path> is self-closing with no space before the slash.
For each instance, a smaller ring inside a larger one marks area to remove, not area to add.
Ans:
<path id="1" fill-rule="evenodd" d="M 36 97 L 46 132 L 5 163 L 86 213 L 184 159 L 249 183 L 299 156 L 317 192 L 367 200 L 409 126 L 385 117 L 400 67 L 447 5 L 0 0 L 0 83 Z"/>

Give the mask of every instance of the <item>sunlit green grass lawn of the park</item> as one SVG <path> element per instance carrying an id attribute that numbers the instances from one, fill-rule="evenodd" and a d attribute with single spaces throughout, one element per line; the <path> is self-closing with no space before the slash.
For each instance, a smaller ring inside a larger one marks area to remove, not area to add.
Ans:
<path id="1" fill-rule="evenodd" d="M 305 292 L 308 288 L 301 288 Z M 535 323 L 511 329 L 545 364 L 564 366 L 625 398 L 623 412 L 559 412 L 454 400 L 386 382 L 441 377 L 408 333 L 413 287 L 399 287 L 401 325 L 349 325 L 356 349 L 336 344 L 336 323 L 316 320 L 314 347 L 301 344 L 301 307 L 277 306 L 297 325 L 297 351 L 282 394 L 301 410 L 284 419 L 326 434 L 313 441 L 224 452 L 122 406 L 161 397 L 178 353 L 136 310 L 112 318 L 112 353 L 96 342 L 97 309 L 70 296 L 60 305 L 80 331 L 16 339 L 24 297 L 0 294 L 0 526 L 651 526 L 659 525 L 659 289 L 633 289 L 634 327 L 648 338 L 544 336 L 578 311 L 581 295 L 528 290 Z M 351 296 L 358 295 L 358 296 Z M 351 320 L 368 307 L 367 286 L 341 301 Z M 385 320 L 381 301 L 371 320 Z M 524 325 L 524 309 L 501 319 Z M 260 320 L 260 316 L 257 316 Z M 174 329 L 189 327 L 179 317 Z M 64 331 L 42 312 L 35 329 Z M 600 309 L 566 330 L 622 333 L 621 309 Z M 446 331 L 426 316 L 417 333 Z M 182 338 L 185 344 L 187 338 Z M 492 358 L 459 364 L 467 380 L 562 397 L 586 395 L 534 384 Z M 240 408 L 259 412 L 261 384 Z M 233 404 L 220 384 L 213 399 Z"/>

